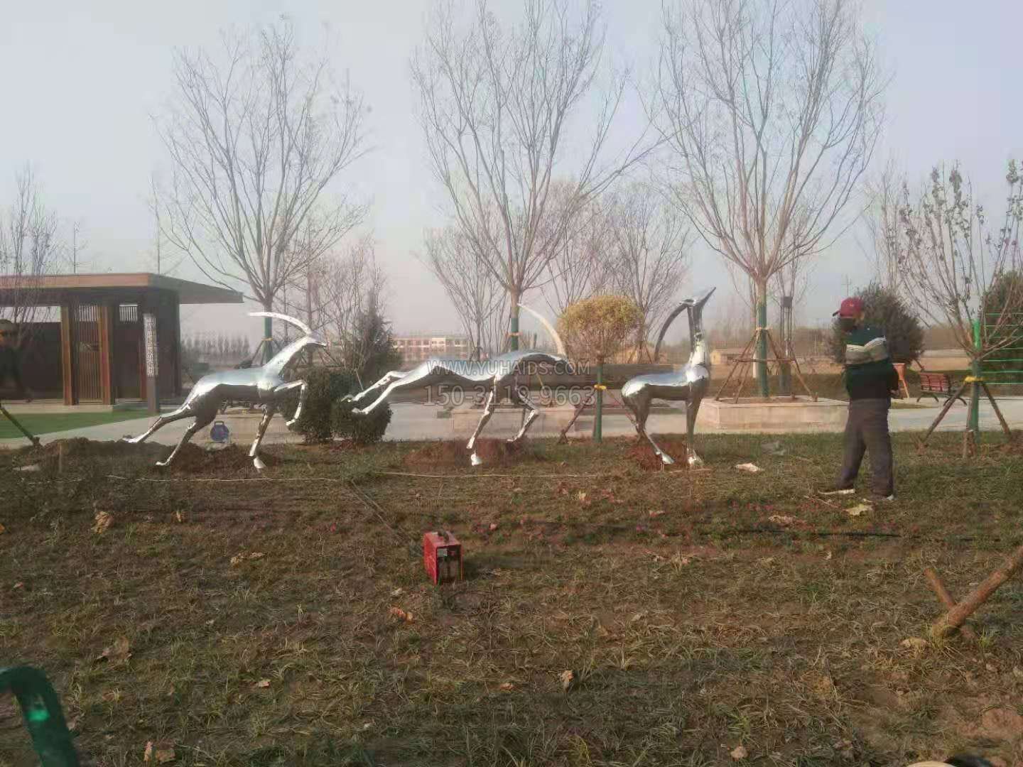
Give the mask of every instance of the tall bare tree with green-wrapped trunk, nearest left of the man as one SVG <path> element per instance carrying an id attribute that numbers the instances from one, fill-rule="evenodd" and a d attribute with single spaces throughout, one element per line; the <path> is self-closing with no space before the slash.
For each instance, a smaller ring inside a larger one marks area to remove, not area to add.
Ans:
<path id="1" fill-rule="evenodd" d="M 752 280 L 760 326 L 771 278 L 844 229 L 886 82 L 854 0 L 666 10 L 655 112 L 669 186 L 704 241 Z M 765 364 L 757 374 L 767 396 Z"/>

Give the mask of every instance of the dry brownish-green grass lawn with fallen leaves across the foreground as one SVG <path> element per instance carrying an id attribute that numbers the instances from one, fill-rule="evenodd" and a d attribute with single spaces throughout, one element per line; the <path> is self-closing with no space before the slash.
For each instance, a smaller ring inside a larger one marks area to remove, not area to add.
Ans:
<path id="1" fill-rule="evenodd" d="M 1023 539 L 1023 451 L 897 435 L 898 502 L 852 515 L 812 497 L 840 440 L 701 436 L 668 471 L 632 440 L 280 446 L 252 482 L 233 447 L 0 452 L 0 666 L 46 670 L 94 765 L 1020 764 L 1023 582 L 975 642 L 903 640 L 925 567 L 962 596 Z M 31 759 L 2 698 L 0 765 Z"/>

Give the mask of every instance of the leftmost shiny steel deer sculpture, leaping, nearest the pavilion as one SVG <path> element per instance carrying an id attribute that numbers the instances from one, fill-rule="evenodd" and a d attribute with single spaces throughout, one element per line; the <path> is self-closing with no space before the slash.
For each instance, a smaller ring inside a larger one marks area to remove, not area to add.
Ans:
<path id="1" fill-rule="evenodd" d="M 138 437 L 126 438 L 126 442 L 138 444 L 145 442 L 157 430 L 166 426 L 172 421 L 180 420 L 181 418 L 195 418 L 192 424 L 185 430 L 181 441 L 171 454 L 167 456 L 167 460 L 158 461 L 158 466 L 166 466 L 174 460 L 174 456 L 192 438 L 192 435 L 201 428 L 205 428 L 213 421 L 217 416 L 217 410 L 220 408 L 221 403 L 227 400 L 248 400 L 263 405 L 263 419 L 260 421 L 259 428 L 256 432 L 256 440 L 249 450 L 249 457 L 253 459 L 253 465 L 260 470 L 265 468 L 266 465 L 259 457 L 259 446 L 263 442 L 263 435 L 266 434 L 266 427 L 270 424 L 270 418 L 277 412 L 277 408 L 283 398 L 296 389 L 299 390 L 299 406 L 295 410 L 295 415 L 287 421 L 287 425 L 292 425 L 302 415 L 302 407 L 306 402 L 306 393 L 309 390 L 309 385 L 304 380 L 285 381 L 283 377 L 284 368 L 291 364 L 292 360 L 303 349 L 307 347 L 325 348 L 326 344 L 314 337 L 313 331 L 309 326 L 294 317 L 277 314 L 276 312 L 250 312 L 249 316 L 279 319 L 282 322 L 295 325 L 305 335 L 285 346 L 262 367 L 225 370 L 219 373 L 204 375 L 192 387 L 191 392 L 188 393 L 188 397 L 181 407 L 172 413 L 161 415 L 145 434 L 141 434 Z"/>

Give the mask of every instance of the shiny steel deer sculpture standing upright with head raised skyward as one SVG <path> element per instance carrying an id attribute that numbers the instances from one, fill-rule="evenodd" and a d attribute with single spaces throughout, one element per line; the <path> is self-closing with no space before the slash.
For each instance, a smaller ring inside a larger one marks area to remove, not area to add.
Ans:
<path id="1" fill-rule="evenodd" d="M 654 439 L 647 433 L 647 417 L 650 415 L 650 403 L 652 400 L 669 400 L 672 402 L 684 402 L 685 404 L 685 453 L 691 466 L 699 466 L 703 460 L 697 455 L 694 447 L 693 432 L 697 422 L 697 413 L 700 411 L 700 403 L 703 401 L 707 390 L 710 389 L 710 354 L 707 350 L 707 342 L 703 332 L 703 308 L 716 288 L 711 288 L 699 299 L 686 299 L 675 307 L 661 327 L 661 334 L 657 339 L 657 346 L 654 348 L 654 361 L 656 362 L 661 353 L 661 342 L 664 334 L 668 332 L 675 317 L 682 310 L 688 314 L 690 320 L 690 344 L 693 350 L 690 353 L 688 362 L 681 370 L 670 373 L 649 373 L 647 375 L 636 375 L 625 381 L 622 387 L 622 401 L 625 406 L 632 411 L 635 417 L 636 432 L 640 437 L 650 441 L 654 446 L 654 452 L 661 458 L 663 463 L 674 463 L 671 456 L 661 450 Z"/>

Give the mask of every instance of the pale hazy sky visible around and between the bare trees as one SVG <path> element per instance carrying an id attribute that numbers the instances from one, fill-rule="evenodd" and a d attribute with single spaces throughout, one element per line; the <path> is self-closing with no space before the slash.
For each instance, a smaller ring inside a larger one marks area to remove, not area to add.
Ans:
<path id="1" fill-rule="evenodd" d="M 508 13 L 518 7 L 494 4 Z M 348 71 L 372 107 L 374 149 L 343 181 L 372 199 L 368 226 L 389 274 L 395 329 L 456 329 L 443 292 L 412 256 L 424 229 L 443 223 L 408 78 L 430 7 L 427 0 L 0 0 L 0 205 L 11 197 L 14 172 L 32 163 L 47 204 L 81 222 L 90 271 L 150 269 L 145 197 L 150 174 L 166 168 L 150 116 L 172 92 L 173 49 L 214 45 L 222 29 L 271 22 L 284 11 L 304 42 L 331 41 L 336 69 Z M 606 0 L 604 7 L 614 59 L 641 70 L 656 54 L 660 0 Z M 959 160 L 997 204 L 1006 160 L 1023 154 L 1023 3 L 868 0 L 864 17 L 894 72 L 879 161 L 894 154 L 910 179 L 923 179 L 936 162 Z M 623 116 L 626 130 L 637 122 Z M 187 262 L 175 274 L 201 278 Z M 847 276 L 853 285 L 870 280 L 851 234 L 818 263 L 803 321 L 831 314 Z M 730 284 L 717 261 L 697 251 L 683 292 L 710 284 L 722 288 L 715 297 L 721 311 Z M 543 308 L 539 297 L 528 303 Z M 259 321 L 237 306 L 188 309 L 182 319 L 185 332 L 222 327 L 259 336 Z"/>

